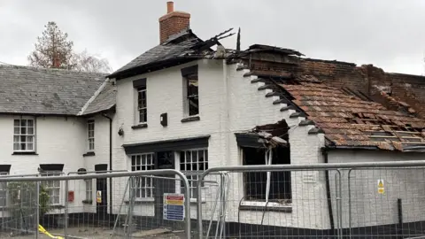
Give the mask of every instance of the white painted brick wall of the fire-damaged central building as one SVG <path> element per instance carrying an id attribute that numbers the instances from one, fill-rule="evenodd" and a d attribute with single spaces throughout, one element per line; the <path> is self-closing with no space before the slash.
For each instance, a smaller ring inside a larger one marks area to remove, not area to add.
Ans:
<path id="1" fill-rule="evenodd" d="M 195 63 L 196 64 L 196 63 Z M 115 126 L 124 129 L 122 137 L 117 136 L 114 143 L 113 167 L 129 169 L 129 158 L 122 149 L 124 143 L 144 143 L 159 140 L 178 139 L 197 135 L 211 135 L 209 140 L 209 167 L 240 165 L 240 153 L 236 143 L 236 132 L 248 131 L 253 127 L 276 123 L 285 119 L 290 127 L 291 163 L 318 163 L 322 161 L 320 148 L 323 145 L 323 135 L 307 135 L 308 127 L 296 127 L 301 118 L 290 119 L 290 113 L 280 112 L 285 104 L 273 104 L 276 97 L 266 97 L 267 90 L 258 90 L 261 83 L 252 84 L 251 77 L 243 77 L 244 71 L 236 71 L 236 65 L 227 66 L 228 72 L 228 102 L 223 92 L 223 68 L 219 60 L 199 60 L 199 104 L 201 120 L 182 123 L 183 96 L 182 74 L 180 69 L 186 64 L 155 73 L 148 73 L 118 81 L 117 113 Z M 132 81 L 147 78 L 148 127 L 132 129 L 135 125 L 135 89 Z M 226 104 L 228 112 L 222 112 Z M 159 115 L 168 113 L 168 127 L 159 124 Z M 225 121 L 228 119 L 228 129 Z M 221 122 L 221 123 L 220 123 Z M 227 143 L 228 142 L 228 143 Z M 323 178 L 323 177 L 322 177 Z M 265 225 L 286 227 L 328 227 L 326 193 L 324 179 L 318 179 L 315 184 L 303 184 L 298 174 L 293 176 L 292 188 L 294 202 L 293 212 L 267 212 L 263 221 Z M 243 198 L 242 176 L 233 173 L 229 184 L 228 221 L 242 221 L 259 224 L 261 212 L 240 212 L 238 204 Z M 203 204 L 205 219 L 212 213 L 216 189 L 205 189 Z M 319 200 L 305 200 L 319 197 Z M 114 195 L 114 202 L 120 200 L 122 194 Z M 151 206 L 153 209 L 153 204 Z M 195 218 L 195 206 L 191 207 Z M 114 206 L 114 211 L 118 207 Z M 319 213 L 313 214 L 313 211 Z M 143 212 L 142 208 L 135 211 Z M 312 216 L 313 215 L 313 216 Z"/>

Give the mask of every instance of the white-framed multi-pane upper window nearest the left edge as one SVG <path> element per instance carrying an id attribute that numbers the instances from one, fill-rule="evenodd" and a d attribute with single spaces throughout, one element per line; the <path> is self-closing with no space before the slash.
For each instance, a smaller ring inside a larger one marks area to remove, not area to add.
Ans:
<path id="1" fill-rule="evenodd" d="M 22 123 L 23 121 L 26 122 L 25 126 L 23 126 L 23 123 Z M 32 126 L 29 126 L 28 122 L 32 122 Z M 30 129 L 32 129 L 32 133 L 28 133 Z M 22 141 L 23 137 L 25 138 L 25 141 Z M 25 145 L 24 150 L 22 150 L 22 145 Z M 31 149 L 28 150 L 30 145 L 31 145 Z M 13 151 L 14 152 L 35 152 L 35 119 L 34 118 L 13 119 Z"/>

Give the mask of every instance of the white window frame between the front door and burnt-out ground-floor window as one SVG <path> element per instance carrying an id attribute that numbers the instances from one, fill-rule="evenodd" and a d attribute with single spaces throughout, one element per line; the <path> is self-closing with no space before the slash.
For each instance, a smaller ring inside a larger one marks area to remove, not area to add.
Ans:
<path id="1" fill-rule="evenodd" d="M 190 154 L 190 161 L 188 162 L 186 158 L 182 158 L 182 152 L 184 153 L 184 156 L 186 157 L 186 152 L 194 152 L 197 151 L 197 159 L 193 157 L 193 153 Z M 202 165 L 204 166 L 204 170 L 192 170 L 193 164 L 195 163 L 197 165 L 197 169 L 201 164 L 199 163 L 199 152 L 203 151 L 203 157 L 204 161 L 202 161 Z M 197 161 L 194 161 L 197 160 Z M 190 165 L 190 167 L 189 167 Z M 183 168 L 182 168 L 183 166 Z M 190 191 L 190 201 L 194 201 L 197 199 L 197 181 L 199 179 L 199 176 L 201 173 L 205 172 L 205 170 L 208 169 L 208 148 L 199 148 L 199 149 L 189 149 L 189 150 L 180 150 L 178 151 L 178 160 L 176 160 L 176 167 L 177 170 L 182 171 L 189 180 L 189 191 Z M 188 170 L 190 169 L 190 170 Z M 182 192 L 182 189 L 179 188 L 179 192 Z"/>

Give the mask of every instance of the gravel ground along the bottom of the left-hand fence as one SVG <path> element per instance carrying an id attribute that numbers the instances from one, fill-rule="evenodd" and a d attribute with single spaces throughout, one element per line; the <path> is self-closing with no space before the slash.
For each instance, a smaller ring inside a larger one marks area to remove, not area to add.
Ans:
<path id="1" fill-rule="evenodd" d="M 50 234 L 52 235 L 63 235 L 64 230 L 50 230 Z M 158 234 L 155 234 L 158 233 Z M 114 239 L 120 239 L 125 238 L 122 236 L 122 232 L 117 232 L 117 234 L 113 237 L 111 228 L 102 228 L 102 227 L 71 227 L 68 228 L 67 234 L 69 238 L 74 239 L 106 239 L 106 238 L 114 238 Z M 180 235 L 180 233 L 179 233 Z M 135 234 L 132 236 L 132 238 L 146 238 L 146 239 L 180 239 L 183 238 L 182 235 L 176 235 L 173 233 L 160 233 L 158 231 L 140 231 L 135 232 Z M 0 238 L 14 238 L 14 239 L 28 239 L 28 238 L 35 238 L 35 235 L 12 235 L 10 233 L 0 233 Z M 42 233 L 39 234 L 39 239 L 49 239 L 50 237 L 48 235 L 43 235 Z M 51 239 L 51 238 L 50 238 Z"/>

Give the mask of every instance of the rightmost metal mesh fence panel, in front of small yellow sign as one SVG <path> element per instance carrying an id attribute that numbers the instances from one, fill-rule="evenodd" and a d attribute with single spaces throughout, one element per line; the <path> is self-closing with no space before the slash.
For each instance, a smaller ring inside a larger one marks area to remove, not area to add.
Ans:
<path id="1" fill-rule="evenodd" d="M 344 231 L 352 238 L 425 236 L 425 168 L 344 172 Z"/>

